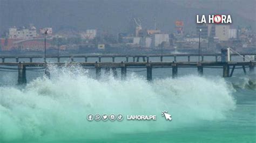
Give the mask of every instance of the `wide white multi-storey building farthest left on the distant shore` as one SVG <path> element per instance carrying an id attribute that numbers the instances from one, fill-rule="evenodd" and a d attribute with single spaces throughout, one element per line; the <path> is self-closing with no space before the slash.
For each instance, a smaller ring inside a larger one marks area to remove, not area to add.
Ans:
<path id="1" fill-rule="evenodd" d="M 36 27 L 31 26 L 30 28 L 21 28 L 16 27 L 9 28 L 9 38 L 12 39 L 32 39 L 37 37 Z"/>

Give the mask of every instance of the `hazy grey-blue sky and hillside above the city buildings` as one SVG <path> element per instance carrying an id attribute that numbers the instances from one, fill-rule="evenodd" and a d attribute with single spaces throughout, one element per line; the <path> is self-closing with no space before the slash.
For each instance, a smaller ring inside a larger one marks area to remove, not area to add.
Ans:
<path id="1" fill-rule="evenodd" d="M 233 27 L 256 25 L 256 1 L 126 1 L 126 0 L 0 0 L 0 33 L 10 26 L 52 26 L 118 33 L 131 30 L 132 19 L 142 20 L 143 28 L 157 27 L 172 32 L 176 20 L 183 20 L 186 31 L 193 31 L 197 14 L 231 14 Z"/>

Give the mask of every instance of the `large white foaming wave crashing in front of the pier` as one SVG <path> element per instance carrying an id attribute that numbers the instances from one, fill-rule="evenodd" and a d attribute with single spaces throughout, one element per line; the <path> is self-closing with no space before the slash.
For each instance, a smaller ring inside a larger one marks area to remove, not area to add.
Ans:
<path id="1" fill-rule="evenodd" d="M 114 133 L 172 130 L 201 120 L 224 119 L 235 108 L 223 78 L 198 76 L 147 82 L 136 75 L 95 80 L 79 66 L 50 67 L 24 89 L 0 87 L 0 141 L 69 140 Z M 171 123 L 161 117 L 168 110 Z M 87 121 L 87 113 L 157 115 L 157 121 Z"/>

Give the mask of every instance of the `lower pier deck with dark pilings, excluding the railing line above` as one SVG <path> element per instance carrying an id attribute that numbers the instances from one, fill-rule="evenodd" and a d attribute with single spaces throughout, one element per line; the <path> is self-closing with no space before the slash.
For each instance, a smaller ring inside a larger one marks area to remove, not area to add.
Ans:
<path id="1" fill-rule="evenodd" d="M 16 63 L 16 62 L 2 62 L 0 63 L 1 69 L 13 69 L 15 68 L 3 68 L 2 66 L 16 66 L 18 70 L 18 84 L 26 83 L 26 70 L 28 69 L 46 69 L 49 65 L 56 66 L 71 66 L 71 65 L 79 65 L 84 68 L 95 68 L 96 69 L 96 77 L 99 78 L 102 73 L 102 69 L 105 69 L 106 72 L 109 72 L 110 69 L 112 71 L 116 69 L 121 69 L 121 77 L 125 79 L 127 68 L 145 68 L 146 69 L 146 77 L 148 81 L 152 80 L 152 68 L 170 68 L 170 72 L 172 72 L 172 77 L 176 78 L 178 76 L 179 68 L 197 68 L 198 74 L 203 75 L 204 68 L 223 68 L 223 77 L 231 77 L 233 75 L 233 71 L 235 68 L 244 69 L 244 73 L 246 74 L 246 67 L 249 68 L 249 73 L 254 72 L 256 62 L 54 62 L 54 63 L 45 63 L 45 62 L 24 62 L 24 63 Z M 230 68 L 232 70 L 230 71 Z M 116 73 L 117 74 L 117 73 Z"/>

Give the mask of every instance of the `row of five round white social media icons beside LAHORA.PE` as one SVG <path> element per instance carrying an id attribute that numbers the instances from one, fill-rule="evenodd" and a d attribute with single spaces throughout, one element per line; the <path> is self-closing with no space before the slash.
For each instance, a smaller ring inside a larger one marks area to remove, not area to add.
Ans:
<path id="1" fill-rule="evenodd" d="M 117 120 L 121 121 L 124 119 L 124 116 L 120 113 L 117 116 L 115 114 L 110 114 L 110 115 L 103 114 L 102 116 L 100 116 L 100 114 L 98 114 L 98 113 L 95 114 L 94 116 L 91 113 L 87 114 L 87 120 L 92 121 L 93 119 L 95 119 L 96 121 L 99 121 L 101 119 L 104 121 L 106 121 L 107 119 L 110 119 L 112 121 L 117 119 Z"/>

